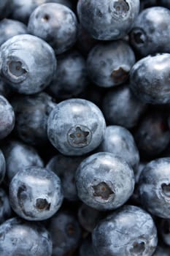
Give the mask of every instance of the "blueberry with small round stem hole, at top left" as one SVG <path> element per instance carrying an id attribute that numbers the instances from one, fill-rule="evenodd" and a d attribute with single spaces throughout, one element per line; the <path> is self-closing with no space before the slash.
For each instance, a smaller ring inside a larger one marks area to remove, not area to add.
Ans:
<path id="1" fill-rule="evenodd" d="M 61 54 L 69 50 L 77 40 L 77 18 L 63 4 L 41 4 L 31 13 L 28 32 L 44 39 L 56 54 Z"/>

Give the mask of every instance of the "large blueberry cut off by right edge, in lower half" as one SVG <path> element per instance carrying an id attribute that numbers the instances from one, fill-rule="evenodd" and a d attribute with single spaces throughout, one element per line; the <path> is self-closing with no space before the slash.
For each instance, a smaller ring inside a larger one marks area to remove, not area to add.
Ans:
<path id="1" fill-rule="evenodd" d="M 169 219 L 170 201 L 170 158 L 149 162 L 139 178 L 141 202 L 151 214 Z"/>

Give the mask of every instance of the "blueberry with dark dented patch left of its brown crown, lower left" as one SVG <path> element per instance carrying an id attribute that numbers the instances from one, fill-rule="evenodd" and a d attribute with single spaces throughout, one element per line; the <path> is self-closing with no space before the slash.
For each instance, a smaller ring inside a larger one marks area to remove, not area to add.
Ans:
<path id="1" fill-rule="evenodd" d="M 61 180 L 42 167 L 25 167 L 9 184 L 12 209 L 23 219 L 49 219 L 61 207 Z"/>

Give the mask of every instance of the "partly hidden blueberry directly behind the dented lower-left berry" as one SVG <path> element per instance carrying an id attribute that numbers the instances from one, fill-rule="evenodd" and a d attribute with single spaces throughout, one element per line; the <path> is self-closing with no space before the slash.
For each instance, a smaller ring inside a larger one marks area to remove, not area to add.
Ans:
<path id="1" fill-rule="evenodd" d="M 36 149 L 17 140 L 4 143 L 2 147 L 6 160 L 7 178 L 9 181 L 19 170 L 28 166 L 44 167 L 44 163 L 39 157 Z"/>

